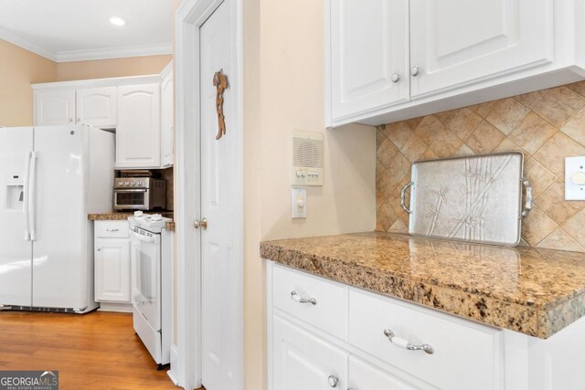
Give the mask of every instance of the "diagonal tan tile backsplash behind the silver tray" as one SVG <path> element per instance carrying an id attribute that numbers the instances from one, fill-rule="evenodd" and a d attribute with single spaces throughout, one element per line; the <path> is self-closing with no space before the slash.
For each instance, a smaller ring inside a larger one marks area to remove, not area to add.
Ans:
<path id="1" fill-rule="evenodd" d="M 565 157 L 585 155 L 585 81 L 379 126 L 378 231 L 408 233 L 400 188 L 411 163 L 520 151 L 534 206 L 522 245 L 585 252 L 585 202 L 564 200 Z"/>

